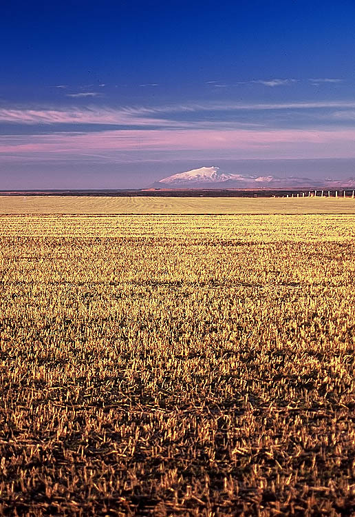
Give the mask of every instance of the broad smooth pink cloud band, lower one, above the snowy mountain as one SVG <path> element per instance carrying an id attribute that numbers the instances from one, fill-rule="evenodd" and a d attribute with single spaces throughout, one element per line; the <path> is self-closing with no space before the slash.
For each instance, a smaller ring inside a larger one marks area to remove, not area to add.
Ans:
<path id="1" fill-rule="evenodd" d="M 233 150 L 256 156 L 355 156 L 355 130 L 114 130 L 0 137 L 1 154 Z"/>

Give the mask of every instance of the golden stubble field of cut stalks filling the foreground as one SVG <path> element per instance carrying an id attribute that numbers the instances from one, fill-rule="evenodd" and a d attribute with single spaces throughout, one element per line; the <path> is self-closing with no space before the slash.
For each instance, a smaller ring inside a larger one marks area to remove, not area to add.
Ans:
<path id="1" fill-rule="evenodd" d="M 0 216 L 0 516 L 354 515 L 355 202 L 321 202 Z"/>

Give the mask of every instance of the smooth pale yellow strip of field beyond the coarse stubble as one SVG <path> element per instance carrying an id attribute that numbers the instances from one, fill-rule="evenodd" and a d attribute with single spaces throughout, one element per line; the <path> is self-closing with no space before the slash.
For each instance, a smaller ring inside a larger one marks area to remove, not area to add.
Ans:
<path id="1" fill-rule="evenodd" d="M 355 199 L 0 196 L 0 214 L 355 214 Z"/>

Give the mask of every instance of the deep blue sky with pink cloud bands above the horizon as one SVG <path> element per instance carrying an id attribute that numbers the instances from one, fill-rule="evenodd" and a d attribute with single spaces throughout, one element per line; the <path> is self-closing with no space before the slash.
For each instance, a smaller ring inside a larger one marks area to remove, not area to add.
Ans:
<path id="1" fill-rule="evenodd" d="M 353 0 L 8 1 L 0 190 L 355 176 L 354 19 Z"/>

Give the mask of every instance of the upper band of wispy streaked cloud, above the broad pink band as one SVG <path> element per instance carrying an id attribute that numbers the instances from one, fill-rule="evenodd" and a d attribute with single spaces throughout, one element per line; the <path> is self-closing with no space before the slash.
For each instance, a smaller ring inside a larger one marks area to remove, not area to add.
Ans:
<path id="1" fill-rule="evenodd" d="M 80 96 L 82 97 L 82 96 Z M 338 119 L 351 119 L 346 112 L 354 112 L 355 101 L 315 101 L 293 103 L 185 103 L 160 106 L 123 106 L 107 108 L 105 106 L 67 106 L 61 110 L 52 108 L 0 108 L 0 121 L 24 125 L 35 124 L 100 124 L 100 125 L 126 125 L 136 128 L 157 126 L 158 128 L 237 128 L 238 125 L 252 123 L 267 123 L 266 114 L 262 120 L 253 119 L 253 112 L 294 112 L 310 120 L 323 118 L 329 115 L 329 120 L 336 119 L 332 113 L 339 112 Z M 206 112 L 206 115 L 204 115 Z M 230 115 L 241 112 L 248 116 L 238 122 L 235 117 L 230 120 Z M 330 113 L 328 113 L 330 112 Z M 207 116 L 207 118 L 206 118 Z M 269 122 L 270 122 L 270 116 Z"/>

